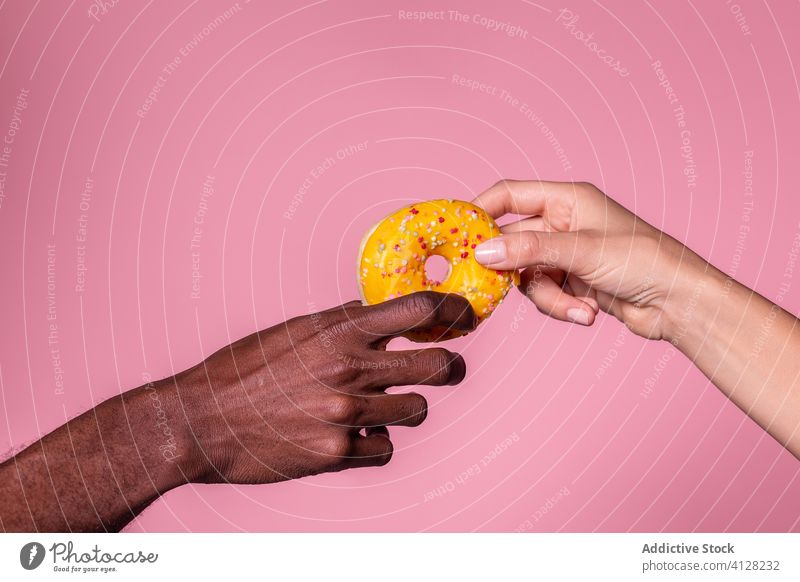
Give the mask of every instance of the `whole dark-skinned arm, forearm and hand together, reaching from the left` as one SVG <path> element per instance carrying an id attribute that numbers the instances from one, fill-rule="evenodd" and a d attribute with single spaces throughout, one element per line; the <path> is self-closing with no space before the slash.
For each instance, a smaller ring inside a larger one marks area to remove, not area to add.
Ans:
<path id="1" fill-rule="evenodd" d="M 386 427 L 416 426 L 427 413 L 419 394 L 386 389 L 457 384 L 465 373 L 445 349 L 386 345 L 475 325 L 464 298 L 418 293 L 255 333 L 109 398 L 1 463 L 0 526 L 116 531 L 189 482 L 274 483 L 383 465 L 392 456 Z"/>

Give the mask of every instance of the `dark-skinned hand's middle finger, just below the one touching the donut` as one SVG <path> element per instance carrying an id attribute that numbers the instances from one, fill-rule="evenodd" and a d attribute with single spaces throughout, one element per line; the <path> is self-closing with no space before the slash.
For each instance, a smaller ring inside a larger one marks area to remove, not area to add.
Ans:
<path id="1" fill-rule="evenodd" d="M 367 387 L 389 386 L 455 386 L 467 373 L 467 365 L 459 354 L 444 348 L 367 352 L 373 367 Z"/>

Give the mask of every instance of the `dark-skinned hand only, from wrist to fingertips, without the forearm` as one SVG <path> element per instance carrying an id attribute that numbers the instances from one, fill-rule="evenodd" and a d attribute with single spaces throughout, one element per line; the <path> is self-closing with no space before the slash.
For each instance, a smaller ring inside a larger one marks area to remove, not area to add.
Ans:
<path id="1" fill-rule="evenodd" d="M 392 456 L 387 426 L 417 426 L 420 394 L 391 386 L 452 385 L 461 356 L 386 351 L 393 337 L 476 325 L 457 295 L 423 292 L 375 306 L 351 302 L 255 333 L 176 378 L 197 442 L 201 480 L 271 483 Z"/>

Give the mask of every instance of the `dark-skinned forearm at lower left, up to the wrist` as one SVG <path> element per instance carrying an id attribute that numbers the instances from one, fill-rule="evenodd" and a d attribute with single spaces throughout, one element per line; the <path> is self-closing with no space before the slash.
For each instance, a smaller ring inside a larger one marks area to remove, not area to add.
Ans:
<path id="1" fill-rule="evenodd" d="M 116 531 L 202 463 L 171 380 L 106 400 L 0 465 L 6 531 Z"/>

